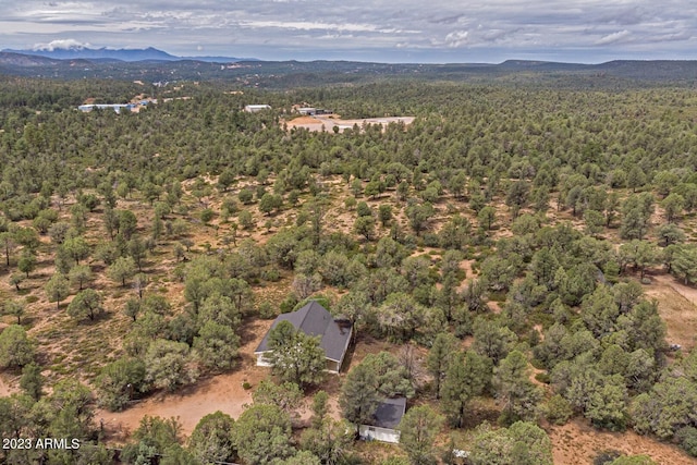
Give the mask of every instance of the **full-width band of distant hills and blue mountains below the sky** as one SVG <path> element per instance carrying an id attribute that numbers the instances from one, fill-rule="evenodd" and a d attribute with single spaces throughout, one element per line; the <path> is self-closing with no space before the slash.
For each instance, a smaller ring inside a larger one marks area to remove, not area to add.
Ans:
<path id="1" fill-rule="evenodd" d="M 697 61 L 615 60 L 600 64 L 508 60 L 488 63 L 370 63 L 356 61 L 260 61 L 231 57 L 175 57 L 146 49 L 0 51 L 0 75 L 59 79 L 148 82 L 210 79 L 242 86 L 289 88 L 353 85 L 382 78 L 454 81 L 546 87 L 622 88 L 697 85 Z"/>

